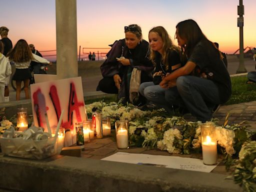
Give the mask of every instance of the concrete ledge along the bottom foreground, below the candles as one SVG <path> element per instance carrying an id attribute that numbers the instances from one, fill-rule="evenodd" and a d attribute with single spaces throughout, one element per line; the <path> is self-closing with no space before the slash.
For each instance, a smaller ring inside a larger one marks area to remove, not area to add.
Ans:
<path id="1" fill-rule="evenodd" d="M 0 155 L 0 188 L 17 191 L 242 191 L 218 173 L 71 156 L 27 160 Z"/>

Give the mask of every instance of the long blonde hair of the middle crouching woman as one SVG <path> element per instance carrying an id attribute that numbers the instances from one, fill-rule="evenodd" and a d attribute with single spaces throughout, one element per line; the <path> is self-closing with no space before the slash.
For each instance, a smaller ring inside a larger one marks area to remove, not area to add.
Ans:
<path id="1" fill-rule="evenodd" d="M 170 39 L 169 34 L 168 34 L 168 32 L 166 31 L 166 29 L 164 27 L 155 26 L 155 27 L 153 27 L 149 30 L 148 34 L 150 32 L 155 32 L 161 37 L 162 42 L 163 42 L 163 45 L 162 45 L 162 50 L 163 50 L 162 63 L 168 68 L 168 53 L 169 53 L 169 50 L 174 49 L 177 52 L 180 52 L 179 48 L 172 43 L 172 40 Z M 155 57 L 156 57 L 156 51 L 153 51 L 150 48 L 150 60 L 153 63 L 154 63 Z"/>

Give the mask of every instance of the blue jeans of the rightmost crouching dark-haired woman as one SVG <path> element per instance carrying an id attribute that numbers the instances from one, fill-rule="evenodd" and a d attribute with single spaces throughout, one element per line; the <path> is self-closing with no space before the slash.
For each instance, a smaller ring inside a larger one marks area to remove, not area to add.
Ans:
<path id="1" fill-rule="evenodd" d="M 190 113 L 203 122 L 210 120 L 212 108 L 220 103 L 217 85 L 212 80 L 187 75 L 179 76 L 176 86 Z"/>

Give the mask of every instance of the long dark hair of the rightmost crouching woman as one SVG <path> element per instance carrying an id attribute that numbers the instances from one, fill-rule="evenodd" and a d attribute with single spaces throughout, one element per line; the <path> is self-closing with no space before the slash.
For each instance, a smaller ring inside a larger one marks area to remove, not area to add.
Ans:
<path id="1" fill-rule="evenodd" d="M 189 57 L 192 53 L 194 46 L 201 40 L 205 40 L 209 49 L 216 49 L 219 58 L 222 59 L 220 51 L 216 46 L 207 39 L 207 37 L 201 31 L 199 25 L 193 19 L 187 19 L 177 23 L 178 35 L 186 40 L 186 44 L 181 46 L 181 51 Z"/>

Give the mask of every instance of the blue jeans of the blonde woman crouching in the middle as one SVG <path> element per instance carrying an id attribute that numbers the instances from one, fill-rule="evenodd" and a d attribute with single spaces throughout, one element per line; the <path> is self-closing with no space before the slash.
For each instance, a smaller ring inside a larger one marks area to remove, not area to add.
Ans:
<path id="1" fill-rule="evenodd" d="M 155 104 L 157 108 L 164 108 L 170 113 L 173 112 L 172 103 L 168 103 L 165 97 L 172 97 L 174 99 L 178 96 L 178 92 L 176 87 L 169 89 L 173 90 L 173 92 L 166 94 L 166 89 L 160 87 L 160 85 L 155 85 L 153 82 L 143 82 L 139 86 L 139 93 L 146 97 L 149 102 Z"/>

